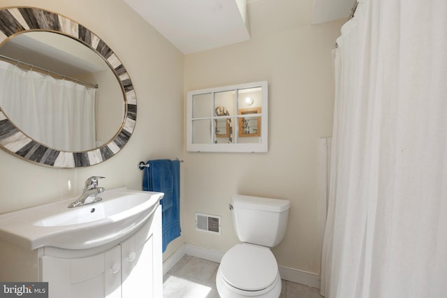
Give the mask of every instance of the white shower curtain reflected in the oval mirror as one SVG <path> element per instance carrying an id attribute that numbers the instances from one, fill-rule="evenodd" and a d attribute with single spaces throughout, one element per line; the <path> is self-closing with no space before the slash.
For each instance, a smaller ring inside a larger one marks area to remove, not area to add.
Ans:
<path id="1" fill-rule="evenodd" d="M 0 61 L 0 108 L 32 139 L 61 151 L 96 147 L 96 89 Z"/>

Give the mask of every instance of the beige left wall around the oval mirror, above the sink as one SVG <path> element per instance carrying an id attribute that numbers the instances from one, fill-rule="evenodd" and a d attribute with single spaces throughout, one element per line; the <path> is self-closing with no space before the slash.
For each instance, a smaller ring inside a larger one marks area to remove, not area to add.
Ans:
<path id="1" fill-rule="evenodd" d="M 54 169 L 0 150 L 0 213 L 80 195 L 85 179 L 92 175 L 105 176 L 101 185 L 106 189 L 121 186 L 141 189 L 139 161 L 183 158 L 184 56 L 181 52 L 122 0 L 0 0 L 1 7 L 18 5 L 61 13 L 102 38 L 131 76 L 138 101 L 138 119 L 126 147 L 117 156 L 92 167 Z"/>

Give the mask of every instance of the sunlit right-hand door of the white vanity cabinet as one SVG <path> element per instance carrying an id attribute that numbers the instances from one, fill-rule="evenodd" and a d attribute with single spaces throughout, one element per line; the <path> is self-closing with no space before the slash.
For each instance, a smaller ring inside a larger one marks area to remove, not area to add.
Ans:
<path id="1" fill-rule="evenodd" d="M 163 297 L 161 206 L 148 223 L 121 246 L 123 297 Z"/>

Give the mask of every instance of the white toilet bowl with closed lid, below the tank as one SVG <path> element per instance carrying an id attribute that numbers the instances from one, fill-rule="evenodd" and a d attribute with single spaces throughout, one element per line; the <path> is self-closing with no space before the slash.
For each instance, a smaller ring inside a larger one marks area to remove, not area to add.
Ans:
<path id="1" fill-rule="evenodd" d="M 277 298 L 281 293 L 277 261 L 265 246 L 237 244 L 223 256 L 216 285 L 224 298 Z"/>

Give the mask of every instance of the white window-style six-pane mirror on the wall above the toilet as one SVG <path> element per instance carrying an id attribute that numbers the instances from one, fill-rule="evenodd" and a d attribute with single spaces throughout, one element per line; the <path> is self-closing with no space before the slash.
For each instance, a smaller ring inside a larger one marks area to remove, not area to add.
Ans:
<path id="1" fill-rule="evenodd" d="M 188 100 L 191 106 L 191 121 L 188 121 L 190 149 L 256 151 L 259 147 L 259 151 L 266 150 L 267 136 L 261 130 L 267 119 L 264 111 L 267 109 L 266 82 L 190 91 Z M 254 147 L 255 150 L 241 147 L 242 144 L 259 146 Z"/>

